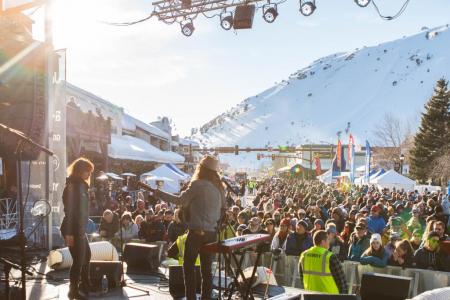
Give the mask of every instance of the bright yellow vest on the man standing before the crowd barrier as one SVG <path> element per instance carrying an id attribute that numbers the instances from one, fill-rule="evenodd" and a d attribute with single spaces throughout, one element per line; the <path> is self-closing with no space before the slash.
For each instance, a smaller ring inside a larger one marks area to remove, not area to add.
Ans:
<path id="1" fill-rule="evenodd" d="M 339 289 L 330 271 L 333 252 L 314 246 L 302 253 L 299 263 L 303 271 L 303 287 L 307 291 L 339 294 Z"/>

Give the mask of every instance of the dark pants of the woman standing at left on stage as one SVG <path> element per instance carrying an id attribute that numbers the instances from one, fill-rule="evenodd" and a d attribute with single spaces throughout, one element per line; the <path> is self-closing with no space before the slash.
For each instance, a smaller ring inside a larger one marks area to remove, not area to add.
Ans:
<path id="1" fill-rule="evenodd" d="M 73 263 L 70 267 L 70 287 L 78 288 L 80 283 L 89 286 L 89 262 L 91 261 L 91 249 L 86 235 L 75 236 L 73 247 L 69 247 Z"/>

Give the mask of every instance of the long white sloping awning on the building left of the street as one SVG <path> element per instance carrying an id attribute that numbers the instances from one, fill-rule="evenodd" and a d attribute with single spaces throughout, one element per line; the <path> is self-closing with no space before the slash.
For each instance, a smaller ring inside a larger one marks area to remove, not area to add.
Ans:
<path id="1" fill-rule="evenodd" d="M 183 163 L 184 157 L 171 151 L 162 151 L 144 140 L 129 135 L 111 135 L 108 155 L 115 159 Z"/>

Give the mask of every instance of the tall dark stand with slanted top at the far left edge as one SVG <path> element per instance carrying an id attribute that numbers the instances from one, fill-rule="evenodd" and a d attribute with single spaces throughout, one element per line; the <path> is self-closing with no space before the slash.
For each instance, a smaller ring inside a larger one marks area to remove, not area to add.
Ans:
<path id="1" fill-rule="evenodd" d="M 27 137 L 23 132 L 13 129 L 11 127 L 6 126 L 5 124 L 0 123 L 0 129 L 6 131 L 7 133 L 15 136 L 19 139 L 19 142 L 17 143 L 16 149 L 14 151 L 14 154 L 16 156 L 16 162 L 17 162 L 17 181 L 18 184 L 18 191 L 17 191 L 17 200 L 19 202 L 19 232 L 17 233 L 17 236 L 19 238 L 19 245 L 20 245 L 20 266 L 21 266 L 21 298 L 22 300 L 26 300 L 27 291 L 26 291 L 26 259 L 25 259 L 25 233 L 24 233 L 24 203 L 23 203 L 23 195 L 22 195 L 22 154 L 23 154 L 23 146 L 29 145 L 35 149 L 38 149 L 45 154 L 49 156 L 53 156 L 53 152 L 47 149 L 46 147 L 36 143 L 31 138 Z M 30 162 L 31 163 L 31 162 Z M 28 183 L 29 184 L 29 183 Z"/>

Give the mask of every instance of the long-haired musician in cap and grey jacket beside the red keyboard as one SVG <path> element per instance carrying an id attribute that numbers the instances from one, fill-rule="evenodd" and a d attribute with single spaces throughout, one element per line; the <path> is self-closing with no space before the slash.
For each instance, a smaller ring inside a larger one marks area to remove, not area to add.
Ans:
<path id="1" fill-rule="evenodd" d="M 184 252 L 183 272 L 186 298 L 196 299 L 195 260 L 200 254 L 202 275 L 202 299 L 210 299 L 212 292 L 212 254 L 200 252 L 207 243 L 216 241 L 216 229 L 225 207 L 224 186 L 219 176 L 219 161 L 213 156 L 205 156 L 197 165 L 188 188 L 179 196 L 160 190 L 156 197 L 181 205 L 187 216 L 188 236 Z"/>

